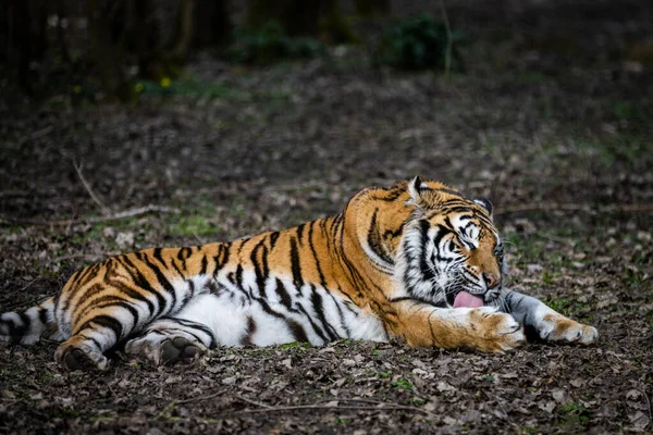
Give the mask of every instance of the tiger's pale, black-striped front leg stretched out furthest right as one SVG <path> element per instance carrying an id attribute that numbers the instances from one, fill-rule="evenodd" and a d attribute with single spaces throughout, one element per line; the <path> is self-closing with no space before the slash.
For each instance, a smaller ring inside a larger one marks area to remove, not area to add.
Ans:
<path id="1" fill-rule="evenodd" d="M 568 319 L 532 296 L 503 290 L 495 303 L 523 324 L 527 333 L 533 332 L 545 341 L 589 345 L 599 339 L 595 327 Z"/>

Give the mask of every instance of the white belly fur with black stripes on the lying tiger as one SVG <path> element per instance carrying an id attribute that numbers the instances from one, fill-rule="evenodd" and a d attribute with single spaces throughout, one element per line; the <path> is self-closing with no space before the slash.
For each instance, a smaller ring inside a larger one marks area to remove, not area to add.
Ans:
<path id="1" fill-rule="evenodd" d="M 217 283 L 223 291 L 196 295 L 174 316 L 207 325 L 219 346 L 241 346 L 245 344 L 245 337 L 248 337 L 247 344 L 256 346 L 296 341 L 296 335 L 288 327 L 288 320 L 301 326 L 313 346 L 338 338 L 387 340 L 383 323 L 377 315 L 324 288 L 311 288 L 308 285 L 297 288 L 292 281 L 280 278 L 292 300 L 288 309 L 288 301 L 284 304 L 276 291 L 276 277 L 269 278 L 266 288 L 260 291 L 254 284 L 255 279 L 248 275 L 249 273 L 244 274 L 239 286 L 219 276 Z M 311 302 L 311 295 L 315 297 L 315 293 L 320 296 L 322 316 Z M 268 303 L 268 312 L 263 303 L 257 300 L 259 298 Z M 270 314 L 270 310 L 278 315 Z M 325 327 L 331 328 L 331 335 L 325 334 Z M 333 338 L 333 335 L 336 337 Z"/>

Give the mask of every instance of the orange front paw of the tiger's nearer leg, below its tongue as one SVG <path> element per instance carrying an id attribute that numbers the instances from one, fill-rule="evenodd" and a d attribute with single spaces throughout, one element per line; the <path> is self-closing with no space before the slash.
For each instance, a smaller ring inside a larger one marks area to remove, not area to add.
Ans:
<path id="1" fill-rule="evenodd" d="M 470 311 L 475 331 L 472 347 L 492 353 L 503 353 L 526 343 L 523 328 L 510 314 L 493 308 L 475 308 Z"/>

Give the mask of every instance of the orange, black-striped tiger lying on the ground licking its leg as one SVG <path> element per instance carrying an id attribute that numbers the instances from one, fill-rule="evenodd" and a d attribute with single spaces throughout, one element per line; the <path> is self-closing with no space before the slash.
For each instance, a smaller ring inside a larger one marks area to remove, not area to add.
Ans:
<path id="1" fill-rule="evenodd" d="M 0 339 L 59 341 L 65 370 L 107 370 L 114 349 L 157 366 L 219 346 L 361 339 L 502 353 L 527 337 L 599 339 L 505 277 L 492 203 L 418 176 L 293 228 L 88 265 L 59 295 L 1 314 Z"/>

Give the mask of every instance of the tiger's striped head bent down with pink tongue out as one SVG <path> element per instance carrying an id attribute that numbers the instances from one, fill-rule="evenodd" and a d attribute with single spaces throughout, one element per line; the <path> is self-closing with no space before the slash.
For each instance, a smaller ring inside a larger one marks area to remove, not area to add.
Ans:
<path id="1" fill-rule="evenodd" d="M 395 268 L 406 296 L 454 308 L 493 302 L 505 263 L 490 201 L 467 199 L 419 177 L 407 190 L 412 210 L 404 223 Z"/>

